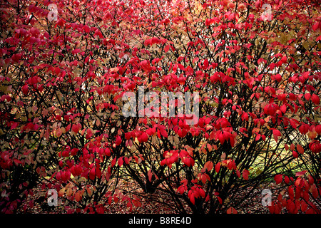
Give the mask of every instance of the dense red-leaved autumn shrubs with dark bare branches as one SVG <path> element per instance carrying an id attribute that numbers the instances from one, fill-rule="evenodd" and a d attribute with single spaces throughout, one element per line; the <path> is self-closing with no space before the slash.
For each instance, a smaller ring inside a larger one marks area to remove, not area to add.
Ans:
<path id="1" fill-rule="evenodd" d="M 320 213 L 318 1 L 0 8 L 1 213 L 29 212 L 49 189 L 69 213 L 132 212 L 155 192 L 175 212 L 234 213 L 263 188 L 271 213 Z M 123 95 L 141 86 L 198 92 L 198 123 L 125 117 Z"/>

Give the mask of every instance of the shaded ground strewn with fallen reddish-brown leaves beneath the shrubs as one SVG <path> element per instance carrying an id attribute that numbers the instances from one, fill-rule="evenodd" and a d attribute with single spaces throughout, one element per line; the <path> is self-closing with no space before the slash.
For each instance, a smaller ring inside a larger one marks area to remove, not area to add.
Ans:
<path id="1" fill-rule="evenodd" d="M 262 190 L 254 190 L 253 198 L 249 200 L 247 206 L 238 209 L 239 214 L 268 214 L 269 210 L 267 207 L 263 207 L 261 195 Z M 165 195 L 161 191 L 156 191 L 154 193 L 144 193 L 142 190 L 136 190 L 135 195 L 138 195 L 141 198 L 141 207 L 132 207 L 130 211 L 127 207 L 127 200 L 118 200 L 118 202 L 111 202 L 108 204 L 108 199 L 104 202 L 106 213 L 110 214 L 175 214 L 175 203 L 171 199 L 170 195 Z M 245 195 L 246 192 L 240 192 L 240 197 Z M 57 207 L 49 207 L 47 203 L 46 190 L 41 190 L 41 188 L 34 190 L 34 195 L 29 195 L 28 200 L 19 207 L 19 213 L 32 213 L 32 214 L 47 214 L 47 213 L 67 213 L 69 209 L 73 209 L 73 203 L 63 201 L 63 199 L 58 199 Z M 191 213 L 191 210 L 188 206 L 185 207 L 188 213 Z M 223 209 L 223 212 L 227 211 L 227 207 Z M 83 213 L 83 211 L 81 211 Z"/>

